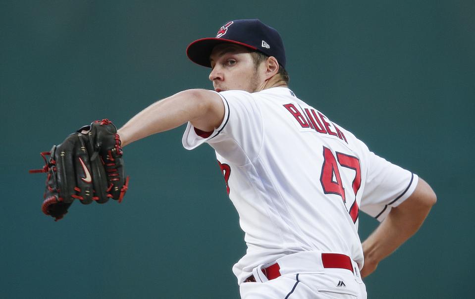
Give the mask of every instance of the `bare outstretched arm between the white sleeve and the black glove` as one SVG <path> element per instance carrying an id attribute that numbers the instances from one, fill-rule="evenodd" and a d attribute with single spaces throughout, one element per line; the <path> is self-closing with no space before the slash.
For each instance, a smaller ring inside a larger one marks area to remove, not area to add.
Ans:
<path id="1" fill-rule="evenodd" d="M 151 104 L 132 117 L 117 133 L 124 147 L 188 121 L 195 128 L 210 132 L 221 124 L 223 118 L 224 104 L 218 94 L 191 89 Z"/>

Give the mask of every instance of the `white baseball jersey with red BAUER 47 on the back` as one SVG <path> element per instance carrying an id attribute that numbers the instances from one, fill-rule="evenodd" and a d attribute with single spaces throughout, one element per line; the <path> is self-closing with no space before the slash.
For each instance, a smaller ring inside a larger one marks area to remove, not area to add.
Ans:
<path id="1" fill-rule="evenodd" d="M 369 151 L 288 88 L 219 95 L 221 125 L 204 135 L 188 123 L 183 146 L 206 142 L 216 151 L 248 247 L 233 267 L 238 283 L 257 265 L 307 250 L 346 254 L 361 269 L 359 209 L 381 221 L 413 193 L 417 175 Z"/>

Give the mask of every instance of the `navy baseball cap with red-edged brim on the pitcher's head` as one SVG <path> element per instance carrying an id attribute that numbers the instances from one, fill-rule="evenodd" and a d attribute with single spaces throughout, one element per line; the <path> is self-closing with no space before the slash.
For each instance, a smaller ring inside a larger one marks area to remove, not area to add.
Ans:
<path id="1" fill-rule="evenodd" d="M 231 43 L 274 56 L 285 67 L 285 49 L 279 33 L 258 19 L 229 21 L 219 28 L 215 38 L 203 38 L 186 48 L 191 61 L 211 67 L 210 55 L 214 46 Z"/>

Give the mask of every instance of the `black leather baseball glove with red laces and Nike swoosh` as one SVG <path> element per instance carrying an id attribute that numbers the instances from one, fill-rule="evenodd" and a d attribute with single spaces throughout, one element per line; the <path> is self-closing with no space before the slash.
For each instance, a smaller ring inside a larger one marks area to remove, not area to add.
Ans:
<path id="1" fill-rule="evenodd" d="M 47 173 L 42 210 L 55 221 L 63 218 L 74 199 L 83 204 L 109 198 L 121 202 L 127 191 L 120 138 L 107 119 L 80 128 L 41 156 L 46 165 L 30 173 Z"/>

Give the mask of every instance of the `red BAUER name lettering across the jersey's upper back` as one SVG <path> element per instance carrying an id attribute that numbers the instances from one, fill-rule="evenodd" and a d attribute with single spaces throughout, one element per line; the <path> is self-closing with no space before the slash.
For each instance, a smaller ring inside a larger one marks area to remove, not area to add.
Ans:
<path id="1" fill-rule="evenodd" d="M 328 119 L 328 117 L 323 115 L 321 112 L 316 111 L 315 109 L 310 107 L 302 109 L 302 113 L 292 103 L 288 103 L 283 106 L 287 109 L 287 111 L 290 112 L 290 114 L 292 114 L 292 116 L 295 118 L 295 120 L 297 120 L 298 124 L 302 128 L 310 128 L 321 134 L 336 136 L 339 139 L 348 143 L 345 134 L 343 134 L 340 128 L 338 128 L 333 122 Z M 336 132 L 332 131 L 333 128 Z"/>

